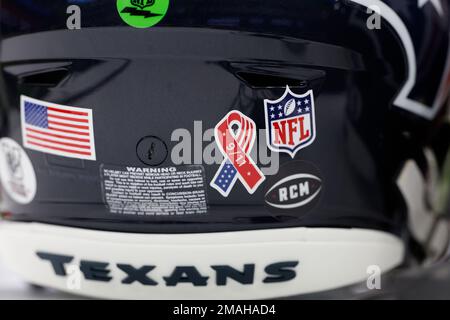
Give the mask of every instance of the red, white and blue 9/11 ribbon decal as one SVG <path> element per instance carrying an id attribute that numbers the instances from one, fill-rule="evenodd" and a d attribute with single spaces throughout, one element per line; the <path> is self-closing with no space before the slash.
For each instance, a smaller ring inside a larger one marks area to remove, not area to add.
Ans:
<path id="1" fill-rule="evenodd" d="M 255 122 L 239 111 L 231 111 L 217 124 L 214 135 L 225 160 L 214 176 L 211 187 L 227 197 L 239 179 L 247 191 L 253 194 L 265 179 L 250 157 L 256 139 Z"/>

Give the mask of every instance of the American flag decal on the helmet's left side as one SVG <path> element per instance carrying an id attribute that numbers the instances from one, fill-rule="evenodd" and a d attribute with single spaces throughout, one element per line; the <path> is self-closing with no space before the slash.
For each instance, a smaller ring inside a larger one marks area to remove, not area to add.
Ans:
<path id="1" fill-rule="evenodd" d="M 62 157 L 95 160 L 92 110 L 21 96 L 25 148 Z"/>

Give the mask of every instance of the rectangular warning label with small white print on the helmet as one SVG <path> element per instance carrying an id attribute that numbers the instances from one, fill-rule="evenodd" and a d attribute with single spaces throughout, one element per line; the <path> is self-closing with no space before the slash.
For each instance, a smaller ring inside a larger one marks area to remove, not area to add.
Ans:
<path id="1" fill-rule="evenodd" d="M 202 166 L 138 168 L 102 165 L 103 196 L 111 213 L 175 216 L 207 212 Z"/>

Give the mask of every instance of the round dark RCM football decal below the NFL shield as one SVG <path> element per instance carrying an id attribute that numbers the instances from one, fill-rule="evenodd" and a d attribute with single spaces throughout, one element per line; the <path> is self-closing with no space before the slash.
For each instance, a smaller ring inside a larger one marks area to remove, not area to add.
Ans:
<path id="1" fill-rule="evenodd" d="M 311 163 L 293 161 L 280 168 L 266 189 L 265 202 L 272 213 L 303 216 L 320 200 L 323 180 Z"/>

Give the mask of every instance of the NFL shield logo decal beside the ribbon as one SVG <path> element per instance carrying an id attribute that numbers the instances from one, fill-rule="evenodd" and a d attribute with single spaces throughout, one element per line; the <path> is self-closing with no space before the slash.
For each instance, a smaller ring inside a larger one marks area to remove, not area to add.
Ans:
<path id="1" fill-rule="evenodd" d="M 314 93 L 295 94 L 289 87 L 278 100 L 264 100 L 267 145 L 292 158 L 316 138 Z"/>

